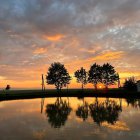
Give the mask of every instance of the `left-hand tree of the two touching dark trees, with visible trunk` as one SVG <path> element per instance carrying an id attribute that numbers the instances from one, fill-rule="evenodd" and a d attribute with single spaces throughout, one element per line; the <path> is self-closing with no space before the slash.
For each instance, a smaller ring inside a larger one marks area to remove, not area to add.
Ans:
<path id="1" fill-rule="evenodd" d="M 97 90 L 97 84 L 101 82 L 101 66 L 98 64 L 93 64 L 88 72 L 88 81 L 94 85 L 95 90 Z"/>

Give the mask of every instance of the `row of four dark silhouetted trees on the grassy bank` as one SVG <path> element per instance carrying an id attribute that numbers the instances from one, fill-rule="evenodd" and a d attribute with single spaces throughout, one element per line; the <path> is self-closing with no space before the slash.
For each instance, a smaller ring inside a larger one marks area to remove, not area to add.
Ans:
<path id="1" fill-rule="evenodd" d="M 77 83 L 81 83 L 82 90 L 87 83 L 92 83 L 95 90 L 97 90 L 97 84 L 99 83 L 102 83 L 108 88 L 109 85 L 114 85 L 119 81 L 119 74 L 109 63 L 105 63 L 102 66 L 94 63 L 91 65 L 89 71 L 86 71 L 81 67 L 74 72 L 74 77 L 76 78 Z M 72 77 L 64 64 L 61 64 L 60 62 L 51 64 L 46 75 L 47 84 L 55 85 L 57 91 L 61 91 L 63 87 L 70 84 L 71 80 Z"/>

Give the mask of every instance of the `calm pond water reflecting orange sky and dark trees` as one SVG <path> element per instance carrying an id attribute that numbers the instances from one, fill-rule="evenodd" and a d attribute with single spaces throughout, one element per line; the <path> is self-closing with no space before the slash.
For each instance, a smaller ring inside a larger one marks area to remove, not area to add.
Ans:
<path id="1" fill-rule="evenodd" d="M 46 98 L 0 102 L 0 140 L 139 140 L 140 100 Z"/>

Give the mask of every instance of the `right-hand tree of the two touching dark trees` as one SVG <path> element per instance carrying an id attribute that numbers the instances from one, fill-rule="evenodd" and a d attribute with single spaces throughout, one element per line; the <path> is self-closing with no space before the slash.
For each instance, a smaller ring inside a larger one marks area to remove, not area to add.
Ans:
<path id="1" fill-rule="evenodd" d="M 114 67 L 107 63 L 101 67 L 101 79 L 101 82 L 108 88 L 109 85 L 113 85 L 119 80 L 119 75 L 116 73 Z"/>

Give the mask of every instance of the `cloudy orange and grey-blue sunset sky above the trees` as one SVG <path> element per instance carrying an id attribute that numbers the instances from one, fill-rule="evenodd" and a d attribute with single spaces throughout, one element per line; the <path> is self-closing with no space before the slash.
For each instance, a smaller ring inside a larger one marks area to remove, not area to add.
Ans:
<path id="1" fill-rule="evenodd" d="M 40 88 L 53 62 L 71 76 L 109 62 L 139 80 L 139 56 L 140 0 L 0 0 L 0 88 Z"/>

